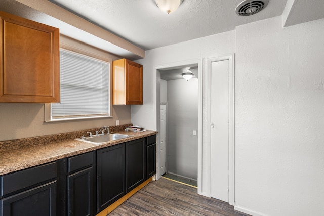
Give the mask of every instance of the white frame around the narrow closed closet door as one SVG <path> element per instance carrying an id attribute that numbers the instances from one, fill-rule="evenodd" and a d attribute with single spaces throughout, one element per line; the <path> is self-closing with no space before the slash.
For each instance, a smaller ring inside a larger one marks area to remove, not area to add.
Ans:
<path id="1" fill-rule="evenodd" d="M 206 166 L 204 169 L 207 171 L 207 179 L 209 180 L 206 182 L 207 187 L 207 196 L 211 197 L 211 63 L 217 62 L 217 61 L 229 61 L 229 90 L 228 90 L 228 98 L 229 98 L 229 170 L 228 170 L 228 203 L 230 205 L 235 205 L 235 130 L 234 130 L 234 124 L 235 124 L 235 115 L 234 115 L 234 93 L 235 93 L 235 85 L 234 85 L 234 53 L 224 55 L 224 56 L 218 56 L 218 57 L 211 57 L 207 59 L 207 82 L 206 82 L 206 88 L 207 88 L 207 121 L 206 122 L 206 128 L 207 128 L 207 145 L 206 145 Z"/>

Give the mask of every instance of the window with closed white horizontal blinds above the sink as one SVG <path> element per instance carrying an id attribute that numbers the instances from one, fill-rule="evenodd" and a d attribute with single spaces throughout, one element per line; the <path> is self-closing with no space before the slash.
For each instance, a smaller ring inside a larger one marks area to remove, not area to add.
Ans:
<path id="1" fill-rule="evenodd" d="M 110 116 L 109 62 L 60 50 L 61 103 L 51 120 Z"/>

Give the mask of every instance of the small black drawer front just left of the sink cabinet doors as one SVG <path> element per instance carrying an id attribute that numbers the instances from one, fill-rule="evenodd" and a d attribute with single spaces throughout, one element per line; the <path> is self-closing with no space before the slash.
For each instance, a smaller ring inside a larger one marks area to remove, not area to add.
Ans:
<path id="1" fill-rule="evenodd" d="M 93 164 L 93 152 L 88 152 L 85 154 L 76 155 L 74 157 L 68 158 L 68 172 L 73 172 L 78 169 L 85 168 Z"/>

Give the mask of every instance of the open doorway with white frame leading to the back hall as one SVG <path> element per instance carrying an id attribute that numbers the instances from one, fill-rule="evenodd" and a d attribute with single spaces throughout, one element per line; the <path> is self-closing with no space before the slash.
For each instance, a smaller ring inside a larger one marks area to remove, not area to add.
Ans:
<path id="1" fill-rule="evenodd" d="M 174 181 L 199 187 L 201 65 L 202 59 L 196 59 L 155 67 L 157 144 L 159 145 L 157 146 L 156 179 L 165 175 Z M 185 80 L 181 75 L 184 70 L 190 70 L 194 77 L 188 81 Z M 165 112 L 162 107 L 166 107 L 166 116 L 162 113 Z M 164 117 L 166 117 L 165 122 Z M 163 123 L 166 124 L 165 135 Z M 165 156 L 163 151 L 165 151 Z"/>

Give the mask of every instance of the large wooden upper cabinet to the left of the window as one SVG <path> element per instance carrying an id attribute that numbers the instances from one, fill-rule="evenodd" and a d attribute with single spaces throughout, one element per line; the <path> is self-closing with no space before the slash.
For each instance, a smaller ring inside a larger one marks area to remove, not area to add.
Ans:
<path id="1" fill-rule="evenodd" d="M 60 102 L 59 29 L 0 12 L 0 102 Z"/>

